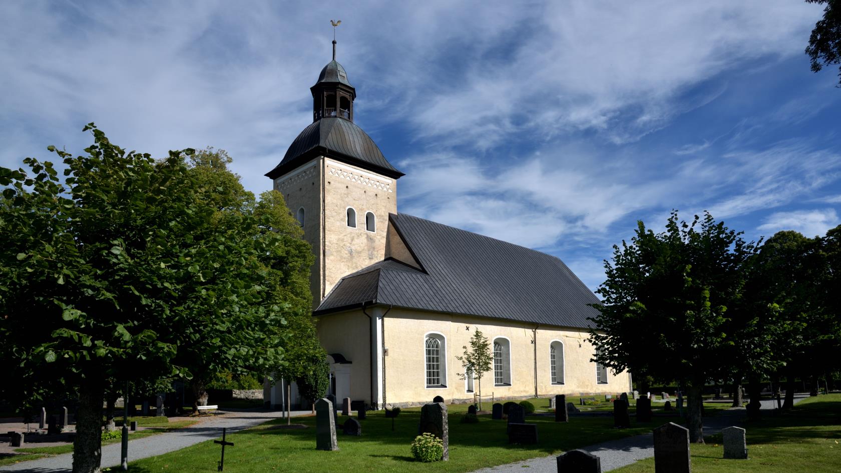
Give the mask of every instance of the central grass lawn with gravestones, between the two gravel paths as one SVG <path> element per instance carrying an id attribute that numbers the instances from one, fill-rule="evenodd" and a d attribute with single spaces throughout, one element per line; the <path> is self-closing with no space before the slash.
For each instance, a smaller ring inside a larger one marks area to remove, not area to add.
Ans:
<path id="1" fill-rule="evenodd" d="M 542 404 L 547 405 L 548 401 L 544 399 Z M 648 432 L 655 424 L 664 422 L 659 418 L 653 423 L 634 423 L 634 428 L 617 430 L 613 428 L 611 417 L 575 417 L 569 423 L 555 423 L 552 417 L 526 416 L 526 422 L 537 423 L 540 443 L 519 446 L 508 444 L 505 421 L 494 421 L 487 415 L 481 415 L 479 423 L 460 423 L 467 406 L 447 406 L 451 412 L 450 460 L 447 462 L 425 464 L 412 459 L 410 444 L 417 435 L 420 408 L 410 408 L 395 419 L 394 432 L 391 431 L 391 419 L 385 418 L 383 412 L 370 412 L 368 418 L 361 421 L 362 437 L 342 435 L 339 427 L 339 451 L 335 452 L 315 449 L 315 417 L 294 419 L 295 423 L 302 423 L 308 428 L 278 428 L 286 423 L 278 419 L 230 434 L 227 439 L 235 445 L 225 449 L 225 471 L 472 471 Z M 339 416 L 340 423 L 345 419 Z M 137 460 L 132 462 L 130 470 L 209 471 L 219 459 L 220 446 L 208 441 L 170 454 Z"/>

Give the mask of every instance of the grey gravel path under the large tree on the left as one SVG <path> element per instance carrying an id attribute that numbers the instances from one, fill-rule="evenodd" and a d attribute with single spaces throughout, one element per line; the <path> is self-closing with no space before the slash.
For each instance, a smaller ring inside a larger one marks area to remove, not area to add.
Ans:
<path id="1" fill-rule="evenodd" d="M 222 437 L 222 428 L 235 432 L 244 428 L 282 417 L 283 412 L 220 411 L 217 417 L 197 423 L 192 427 L 178 429 L 175 432 L 161 433 L 151 437 L 138 438 L 129 442 L 129 465 L 132 460 L 166 454 L 184 447 L 189 447 L 205 440 Z M 310 411 L 293 411 L 292 415 L 301 416 Z M 103 468 L 119 466 L 120 444 L 103 447 Z M 65 473 L 71 471 L 72 454 L 61 454 L 40 460 L 22 461 L 16 465 L 0 466 L 0 471 L 24 471 L 29 473 Z"/>

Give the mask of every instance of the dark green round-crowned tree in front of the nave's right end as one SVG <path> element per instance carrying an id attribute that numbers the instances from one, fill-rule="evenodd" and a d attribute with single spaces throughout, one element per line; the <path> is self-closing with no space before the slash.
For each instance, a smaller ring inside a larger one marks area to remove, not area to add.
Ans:
<path id="1" fill-rule="evenodd" d="M 672 212 L 655 234 L 640 221 L 630 244 L 614 246 L 605 262 L 606 281 L 596 292 L 600 315 L 591 318 L 595 361 L 615 371 L 629 369 L 655 380 L 678 380 L 689 398 L 690 440 L 703 443 L 701 391 L 706 380 L 729 375 L 721 355 L 739 305 L 753 242 L 712 216 L 691 223 Z"/>

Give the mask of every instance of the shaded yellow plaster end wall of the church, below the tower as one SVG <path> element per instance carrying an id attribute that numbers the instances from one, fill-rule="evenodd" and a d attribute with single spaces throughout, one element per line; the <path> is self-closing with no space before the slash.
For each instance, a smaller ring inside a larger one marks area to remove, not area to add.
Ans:
<path id="1" fill-rule="evenodd" d="M 351 361 L 351 399 L 370 402 L 371 355 L 370 321 L 362 311 L 342 312 L 318 317 L 321 347 L 341 353 Z"/>

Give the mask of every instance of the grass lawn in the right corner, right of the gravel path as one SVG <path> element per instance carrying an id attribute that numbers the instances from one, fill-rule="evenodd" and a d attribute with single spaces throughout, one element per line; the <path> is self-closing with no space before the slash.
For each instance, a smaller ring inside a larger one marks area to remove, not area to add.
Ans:
<path id="1" fill-rule="evenodd" d="M 838 473 L 841 470 L 841 395 L 810 397 L 781 417 L 748 423 L 748 460 L 724 460 L 721 434 L 691 445 L 693 473 Z M 654 459 L 616 473 L 653 473 Z"/>

